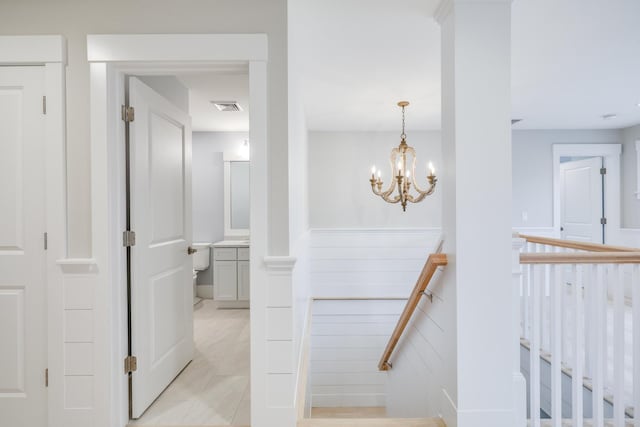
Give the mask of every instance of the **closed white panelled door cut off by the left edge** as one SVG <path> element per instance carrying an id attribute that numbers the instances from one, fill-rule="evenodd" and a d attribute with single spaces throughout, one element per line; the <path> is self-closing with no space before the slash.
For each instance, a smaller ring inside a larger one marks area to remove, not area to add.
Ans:
<path id="1" fill-rule="evenodd" d="M 0 425 L 46 425 L 43 67 L 0 67 Z"/>

